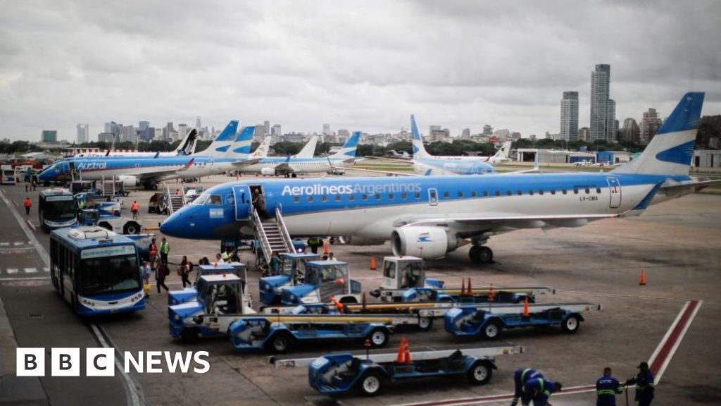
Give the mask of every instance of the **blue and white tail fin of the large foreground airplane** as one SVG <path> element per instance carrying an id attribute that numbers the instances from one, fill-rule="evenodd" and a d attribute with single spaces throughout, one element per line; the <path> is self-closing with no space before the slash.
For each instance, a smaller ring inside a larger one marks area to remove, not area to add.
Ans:
<path id="1" fill-rule="evenodd" d="M 688 175 L 703 105 L 703 92 L 686 93 L 641 156 L 611 172 Z"/>

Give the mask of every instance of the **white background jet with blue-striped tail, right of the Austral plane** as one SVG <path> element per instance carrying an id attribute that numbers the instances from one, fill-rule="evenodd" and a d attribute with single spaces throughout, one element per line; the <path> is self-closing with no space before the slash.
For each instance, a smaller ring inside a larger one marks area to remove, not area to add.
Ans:
<path id="1" fill-rule="evenodd" d="M 242 168 L 242 173 L 260 173 L 265 176 L 286 176 L 295 178 L 298 173 L 314 173 L 326 172 L 333 168 L 344 168 L 355 163 L 355 150 L 358 147 L 358 139 L 361 138 L 361 132 L 355 131 L 348 138 L 345 145 L 334 155 L 328 157 L 301 157 L 300 155 L 312 154 L 309 145 L 298 153 L 298 155 L 289 157 L 266 157 L 259 163 L 248 165 Z M 309 144 L 317 142 L 317 139 L 311 139 Z M 315 151 L 315 147 L 312 148 Z"/>

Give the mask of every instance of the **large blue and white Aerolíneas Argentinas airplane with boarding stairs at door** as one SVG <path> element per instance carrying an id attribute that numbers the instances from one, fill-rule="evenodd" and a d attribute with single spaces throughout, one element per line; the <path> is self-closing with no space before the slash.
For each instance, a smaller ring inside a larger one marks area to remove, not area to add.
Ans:
<path id="1" fill-rule="evenodd" d="M 580 227 L 638 215 L 649 204 L 701 189 L 689 177 L 704 93 L 678 103 L 641 157 L 607 173 L 547 173 L 417 178 L 251 180 L 224 183 L 162 223 L 181 238 L 252 236 L 250 187 L 266 210 L 282 210 L 291 236 L 391 240 L 394 254 L 438 258 L 472 243 L 474 262 L 490 262 L 490 236 L 520 228 Z"/>

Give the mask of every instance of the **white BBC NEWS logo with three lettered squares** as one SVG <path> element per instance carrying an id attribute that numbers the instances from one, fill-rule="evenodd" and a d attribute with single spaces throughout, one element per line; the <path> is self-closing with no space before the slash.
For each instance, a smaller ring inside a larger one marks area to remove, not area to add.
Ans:
<path id="1" fill-rule="evenodd" d="M 208 351 L 125 351 L 122 364 L 125 373 L 163 373 L 163 364 L 169 373 L 206 373 L 211 369 L 208 356 Z M 16 361 L 17 376 L 45 376 L 45 348 L 17 348 Z M 50 349 L 50 376 L 80 376 L 81 363 L 80 348 Z M 115 364 L 115 349 L 85 349 L 84 376 L 115 376 Z"/>

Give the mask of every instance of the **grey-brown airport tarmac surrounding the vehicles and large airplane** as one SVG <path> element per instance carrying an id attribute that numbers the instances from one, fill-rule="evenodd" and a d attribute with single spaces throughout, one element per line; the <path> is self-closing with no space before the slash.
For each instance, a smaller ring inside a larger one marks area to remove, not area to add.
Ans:
<path id="1" fill-rule="evenodd" d="M 201 184 L 208 186 L 232 180 L 234 178 L 214 176 Z M 176 185 L 172 183 L 170 187 L 175 189 Z M 27 194 L 33 202 L 37 202 L 41 189 Z M 22 208 L 18 204 L 26 196 L 24 190 L 21 184 L 1 186 L 4 199 L 0 204 L 9 202 L 9 208 L 19 212 Z M 164 216 L 147 213 L 150 195 L 150 191 L 133 191 L 125 198 L 123 215 L 129 217 L 130 204 L 137 200 L 141 205 L 141 223 L 157 225 Z M 37 228 L 37 213 L 32 210 L 27 219 L 30 223 L 19 223 L 12 210 L 0 210 L 0 221 L 4 224 L 0 251 L 4 249 L 2 244 L 8 243 L 5 246 L 8 252 L 0 262 L 0 299 L 17 345 L 52 347 L 60 342 L 75 347 L 99 346 L 92 327 L 74 316 L 58 296 L 51 294 L 47 273 L 43 273 L 47 265 L 35 253 L 33 241 L 25 233 L 28 230 L 47 250 L 48 236 Z M 24 213 L 20 217 L 25 217 Z M 488 245 L 494 250 L 496 263 L 488 266 L 470 264 L 467 247 L 446 259 L 428 261 L 429 276 L 438 277 L 448 285 L 461 285 L 461 277 L 472 277 L 474 287 L 490 283 L 549 286 L 557 289 L 557 294 L 541 297 L 539 302 L 589 301 L 600 303 L 603 309 L 585 314 L 586 320 L 577 334 L 564 334 L 557 328 L 504 332 L 500 342 L 523 345 L 525 353 L 497 358 L 498 370 L 484 386 L 469 386 L 464 380 L 413 380 L 389 384 L 386 392 L 378 397 L 353 394 L 335 399 L 342 405 L 508 405 L 508 394 L 513 392 L 513 371 L 533 367 L 570 389 L 566 394 L 554 394 L 554 405 L 593 405 L 593 384 L 604 366 L 613 368 L 614 375 L 623 381 L 637 371 L 635 367 L 640 361 L 653 357 L 659 366 L 666 364 L 654 405 L 721 404 L 721 373 L 716 368 L 721 349 L 715 344 L 721 328 L 721 319 L 717 316 L 721 311 L 721 301 L 717 298 L 717 290 L 721 288 L 720 227 L 721 196 L 702 193 L 649 207 L 640 217 L 601 220 L 583 228 L 518 230 L 495 236 Z M 16 249 L 14 243 L 22 244 Z M 197 262 L 202 256 L 213 256 L 219 249 L 217 241 L 169 238 L 169 243 L 172 263 L 179 262 L 182 255 Z M 351 275 L 363 283 L 363 290 L 380 285 L 379 271 L 371 271 L 368 264 L 371 256 L 380 261 L 389 254 L 388 243 L 384 246 L 335 244 L 331 251 L 338 259 L 350 263 Z M 253 262 L 249 251 L 243 251 L 242 258 Z M 35 272 L 26 272 L 33 268 Z M 646 276 L 645 286 L 639 285 L 642 271 Z M 248 275 L 250 291 L 257 299 L 258 274 L 249 270 Z M 169 276 L 169 286 L 180 288 L 179 277 L 174 272 Z M 45 316 L 30 318 L 31 308 L 35 307 L 40 308 L 38 314 Z M 317 395 L 308 385 L 305 368 L 272 369 L 267 366 L 267 353 L 238 353 L 227 340 L 195 345 L 174 342 L 168 334 L 164 293 L 158 295 L 154 291 L 145 311 L 103 319 L 97 322 L 97 327 L 104 333 L 102 337 L 119 351 L 207 350 L 211 354 L 211 369 L 205 374 L 133 373 L 129 381 L 119 373 L 115 379 L 46 377 L 40 379 L 42 386 L 33 386 L 29 381 L 23 383 L 31 388 L 26 394 L 36 395 L 32 402 L 43 404 L 44 398 L 45 403 L 76 404 L 76 400 L 84 396 L 83 386 L 91 387 L 93 390 L 88 392 L 107 399 L 105 403 L 130 405 L 133 392 L 139 404 L 144 405 L 298 405 L 306 402 L 306 397 Z M 414 347 L 474 344 L 472 340 L 456 340 L 436 322 L 431 332 L 409 329 L 394 334 L 386 350 L 397 350 L 401 337 L 409 340 L 411 352 Z M 489 343 L 479 341 L 479 344 Z M 5 357 L 14 357 L 7 344 L 3 344 L 3 349 Z M 361 348 L 306 346 L 291 355 L 309 357 L 327 350 L 346 349 Z M 14 371 L 5 370 L 0 382 L 4 385 L 12 375 Z M 66 386 L 73 384 L 79 389 Z M 0 395 L 4 393 L 2 390 L 0 386 Z M 623 395 L 619 396 L 620 405 L 624 399 Z M 88 400 L 87 403 L 95 402 Z M 4 404 L 2 396 L 1 404 Z"/>

